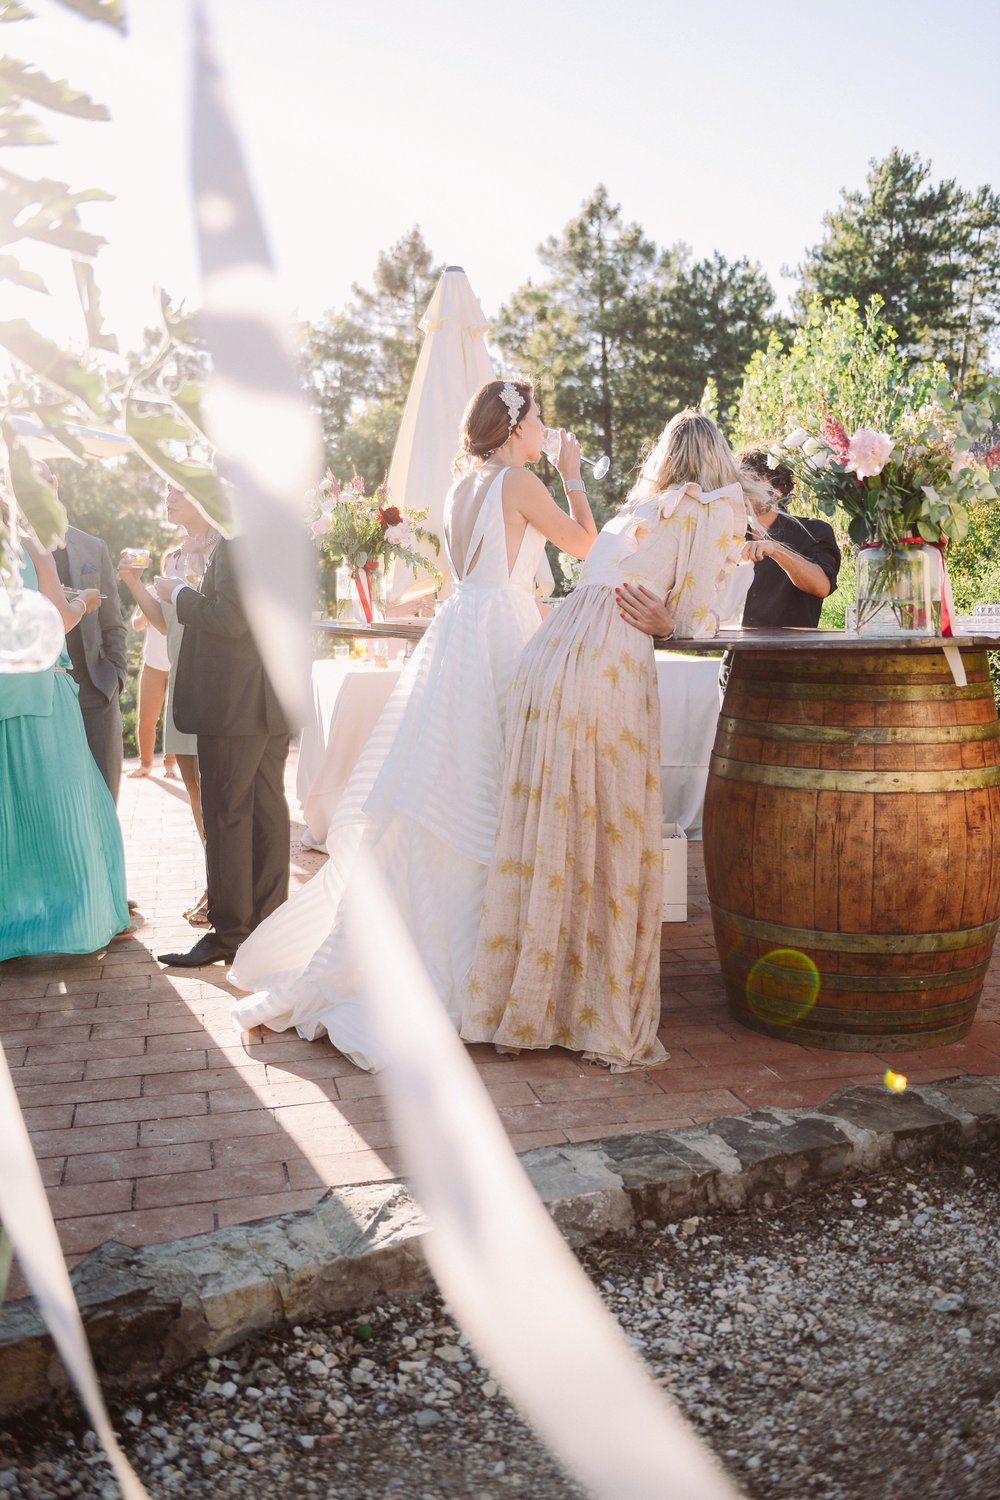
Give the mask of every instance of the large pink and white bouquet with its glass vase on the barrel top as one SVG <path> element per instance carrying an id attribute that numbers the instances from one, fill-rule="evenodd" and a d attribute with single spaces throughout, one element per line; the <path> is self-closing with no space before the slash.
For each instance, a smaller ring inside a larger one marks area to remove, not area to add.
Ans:
<path id="1" fill-rule="evenodd" d="M 826 516 L 846 518 L 858 546 L 858 630 L 952 634 L 945 546 L 969 531 L 969 507 L 997 498 L 1000 444 L 985 447 L 1000 417 L 1000 381 L 978 402 L 940 387 L 900 411 L 892 432 L 847 432 L 835 414 L 801 426 L 769 450 Z"/>

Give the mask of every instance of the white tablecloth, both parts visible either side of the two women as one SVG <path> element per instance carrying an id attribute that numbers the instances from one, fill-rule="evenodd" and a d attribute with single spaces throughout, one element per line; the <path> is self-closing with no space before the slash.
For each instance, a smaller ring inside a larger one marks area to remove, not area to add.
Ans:
<path id="1" fill-rule="evenodd" d="M 295 792 L 309 840 L 322 846 L 330 818 L 400 668 L 313 662 L 312 712 L 298 747 Z M 718 662 L 657 651 L 663 816 L 702 837 L 708 762 L 718 718 Z"/>

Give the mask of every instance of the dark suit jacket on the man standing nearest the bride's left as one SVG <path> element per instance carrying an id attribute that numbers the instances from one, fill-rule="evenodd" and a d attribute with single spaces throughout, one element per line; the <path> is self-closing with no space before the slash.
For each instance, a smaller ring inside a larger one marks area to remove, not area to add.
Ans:
<path id="1" fill-rule="evenodd" d="M 177 596 L 184 633 L 174 668 L 174 723 L 183 734 L 288 734 L 237 588 L 238 549 L 238 540 L 219 542 L 201 592 L 183 588 Z"/>

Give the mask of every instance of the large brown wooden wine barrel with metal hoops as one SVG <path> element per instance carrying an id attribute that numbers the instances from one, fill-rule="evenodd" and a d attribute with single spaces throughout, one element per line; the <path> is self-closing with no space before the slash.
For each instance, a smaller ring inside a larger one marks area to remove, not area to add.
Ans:
<path id="1" fill-rule="evenodd" d="M 1000 723 L 987 654 L 736 651 L 705 798 L 732 1014 L 810 1047 L 942 1046 L 1000 920 Z"/>

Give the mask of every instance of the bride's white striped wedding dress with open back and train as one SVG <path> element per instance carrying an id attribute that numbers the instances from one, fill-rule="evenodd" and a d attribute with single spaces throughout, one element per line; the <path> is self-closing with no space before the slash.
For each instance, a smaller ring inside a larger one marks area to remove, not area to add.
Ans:
<path id="1" fill-rule="evenodd" d="M 294 1026 L 309 1041 L 325 1032 L 358 1068 L 379 1066 L 342 914 L 361 844 L 459 1023 L 493 858 L 507 692 L 540 624 L 534 578 L 544 537 L 529 525 L 508 568 L 505 472 L 492 480 L 475 516 L 471 478 L 448 494 L 445 555 L 454 592 L 361 752 L 330 825 L 327 864 L 235 956 L 229 978 L 253 992 L 234 1008 L 244 1029 Z M 448 536 L 459 534 L 468 544 L 456 566 Z"/>

